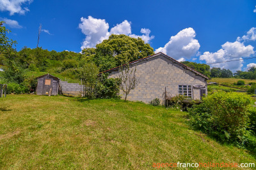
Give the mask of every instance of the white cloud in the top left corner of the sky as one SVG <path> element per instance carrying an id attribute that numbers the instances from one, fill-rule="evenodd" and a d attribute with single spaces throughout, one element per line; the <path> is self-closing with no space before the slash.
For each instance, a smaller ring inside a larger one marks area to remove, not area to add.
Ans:
<path id="1" fill-rule="evenodd" d="M 22 4 L 31 3 L 33 0 L 0 0 L 0 11 L 9 11 L 10 15 L 19 13 L 24 15 L 29 11 L 27 7 L 22 8 Z"/>

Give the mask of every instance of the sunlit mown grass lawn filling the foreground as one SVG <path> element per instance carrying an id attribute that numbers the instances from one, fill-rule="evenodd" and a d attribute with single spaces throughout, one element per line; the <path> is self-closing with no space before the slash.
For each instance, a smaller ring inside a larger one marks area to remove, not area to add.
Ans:
<path id="1" fill-rule="evenodd" d="M 256 163 L 186 125 L 186 112 L 113 99 L 8 95 L 0 169 L 150 169 L 157 162 Z"/>

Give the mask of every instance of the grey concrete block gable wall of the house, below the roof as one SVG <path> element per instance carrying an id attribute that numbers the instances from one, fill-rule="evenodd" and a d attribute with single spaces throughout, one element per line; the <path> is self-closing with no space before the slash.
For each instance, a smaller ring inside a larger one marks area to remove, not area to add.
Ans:
<path id="1" fill-rule="evenodd" d="M 173 97 L 179 94 L 179 85 L 207 86 L 205 78 L 196 75 L 193 71 L 184 69 L 163 55 L 142 60 L 130 65 L 130 67 L 131 69 L 136 67 L 136 76 L 140 78 L 138 86 L 131 90 L 127 96 L 130 101 L 150 103 L 155 98 L 163 101 L 165 87 L 168 96 Z M 118 71 L 112 71 L 109 73 L 109 78 L 116 78 L 118 74 Z M 122 94 L 121 91 L 120 94 Z M 200 99 L 200 89 L 193 89 L 193 99 Z"/>

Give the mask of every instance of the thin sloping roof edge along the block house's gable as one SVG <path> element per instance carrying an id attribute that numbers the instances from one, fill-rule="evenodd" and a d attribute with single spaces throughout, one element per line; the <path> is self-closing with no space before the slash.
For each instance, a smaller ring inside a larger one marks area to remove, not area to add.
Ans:
<path id="1" fill-rule="evenodd" d="M 195 69 L 192 69 L 191 67 L 188 67 L 188 66 L 182 64 L 181 62 L 179 62 L 179 61 L 173 59 L 172 57 L 169 57 L 168 55 L 166 55 L 166 54 L 164 54 L 164 53 L 161 53 L 161 52 L 156 53 L 156 54 L 154 54 L 154 55 L 150 55 L 150 56 L 148 56 L 148 57 L 144 57 L 144 58 L 142 58 L 142 59 L 134 60 L 134 61 L 132 61 L 132 62 L 129 62 L 129 64 L 135 64 L 135 63 L 141 62 L 141 61 L 143 61 L 143 60 L 148 60 L 148 59 L 151 59 L 151 58 L 153 58 L 153 57 L 157 57 L 158 55 L 163 55 L 163 56 L 166 57 L 167 59 L 172 60 L 173 62 L 175 62 L 176 64 L 179 64 L 180 66 L 184 67 L 185 69 L 188 69 L 188 70 L 194 72 L 195 74 L 198 74 L 199 76 L 202 76 L 202 77 L 206 78 L 207 80 L 209 79 L 209 78 L 208 78 L 207 76 L 205 76 L 204 74 L 199 73 L 198 71 L 195 71 Z M 123 64 L 122 66 L 125 66 L 125 65 L 127 65 L 127 64 Z M 119 67 L 121 67 L 121 66 L 113 67 L 112 69 L 108 69 L 108 70 L 103 71 L 103 72 L 101 72 L 101 73 L 109 73 L 109 72 L 111 72 L 111 71 L 115 71 L 115 70 L 118 69 Z M 101 73 L 100 73 L 100 74 L 101 74 Z"/>

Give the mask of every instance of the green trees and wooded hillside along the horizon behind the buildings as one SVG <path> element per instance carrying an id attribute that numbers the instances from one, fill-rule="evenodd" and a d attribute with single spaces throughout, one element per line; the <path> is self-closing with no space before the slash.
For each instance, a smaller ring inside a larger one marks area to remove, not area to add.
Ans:
<path id="1" fill-rule="evenodd" d="M 42 47 L 24 46 L 19 52 L 13 46 L 17 43 L 6 36 L 10 30 L 1 22 L 0 65 L 4 70 L 1 81 L 22 83 L 28 71 L 59 73 L 70 78 L 79 78 L 79 70 L 86 66 L 97 67 L 98 73 L 133 60 L 154 54 L 154 49 L 141 38 L 131 38 L 124 34 L 109 36 L 95 48 L 84 48 L 81 53 L 56 52 Z M 256 79 L 255 67 L 248 71 L 237 71 L 234 75 L 229 69 L 210 67 L 207 64 L 184 61 L 186 66 L 210 78 Z"/>

